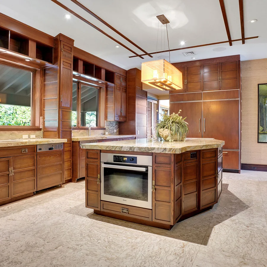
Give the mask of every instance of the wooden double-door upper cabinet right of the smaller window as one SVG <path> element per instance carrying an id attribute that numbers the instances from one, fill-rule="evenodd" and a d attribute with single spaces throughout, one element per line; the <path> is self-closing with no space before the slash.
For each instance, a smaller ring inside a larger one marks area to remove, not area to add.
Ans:
<path id="1" fill-rule="evenodd" d="M 109 121 L 127 120 L 126 88 L 119 85 L 107 85 L 106 118 Z"/>

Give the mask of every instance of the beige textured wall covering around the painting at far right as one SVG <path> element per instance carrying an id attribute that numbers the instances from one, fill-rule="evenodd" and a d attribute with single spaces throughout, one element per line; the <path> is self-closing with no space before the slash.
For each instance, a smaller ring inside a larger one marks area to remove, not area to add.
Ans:
<path id="1" fill-rule="evenodd" d="M 267 143 L 258 144 L 258 83 L 267 83 L 267 58 L 241 61 L 241 163 L 266 164 Z"/>

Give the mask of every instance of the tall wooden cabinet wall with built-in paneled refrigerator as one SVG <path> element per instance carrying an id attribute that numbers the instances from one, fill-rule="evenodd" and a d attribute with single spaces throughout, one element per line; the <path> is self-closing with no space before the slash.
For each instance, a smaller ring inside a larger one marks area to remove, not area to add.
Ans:
<path id="1" fill-rule="evenodd" d="M 182 71 L 184 88 L 170 92 L 170 112 L 182 109 L 188 137 L 224 140 L 223 169 L 237 171 L 241 157 L 239 60 L 236 55 L 174 63 Z"/>

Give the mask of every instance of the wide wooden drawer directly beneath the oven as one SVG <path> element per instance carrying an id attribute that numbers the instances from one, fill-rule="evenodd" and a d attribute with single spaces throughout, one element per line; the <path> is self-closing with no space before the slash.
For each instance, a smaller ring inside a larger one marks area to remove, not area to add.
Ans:
<path id="1" fill-rule="evenodd" d="M 101 201 L 101 211 L 152 221 L 151 209 L 144 209 L 134 206 L 117 204 L 113 202 Z"/>

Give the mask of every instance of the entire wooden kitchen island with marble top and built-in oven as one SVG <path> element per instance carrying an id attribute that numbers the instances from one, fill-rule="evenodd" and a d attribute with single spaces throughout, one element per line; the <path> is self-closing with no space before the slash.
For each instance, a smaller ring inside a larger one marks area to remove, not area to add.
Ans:
<path id="1" fill-rule="evenodd" d="M 85 205 L 96 214 L 171 229 L 217 203 L 223 145 L 204 138 L 82 144 Z"/>

